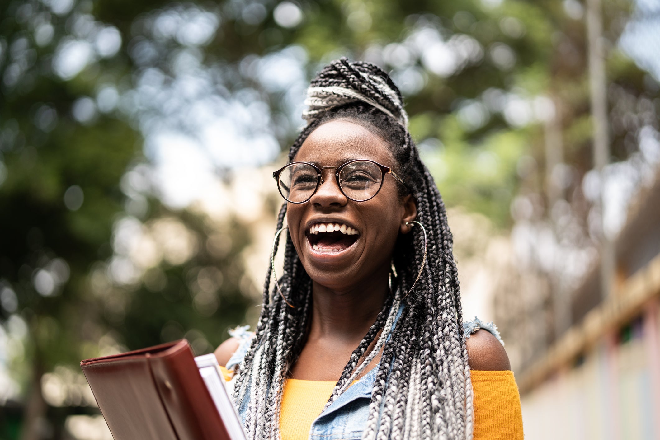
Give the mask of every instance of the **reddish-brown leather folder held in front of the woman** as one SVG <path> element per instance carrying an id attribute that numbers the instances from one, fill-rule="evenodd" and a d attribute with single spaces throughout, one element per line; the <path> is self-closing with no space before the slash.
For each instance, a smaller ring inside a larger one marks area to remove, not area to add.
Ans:
<path id="1" fill-rule="evenodd" d="M 231 440 L 185 339 L 81 368 L 114 440 Z"/>

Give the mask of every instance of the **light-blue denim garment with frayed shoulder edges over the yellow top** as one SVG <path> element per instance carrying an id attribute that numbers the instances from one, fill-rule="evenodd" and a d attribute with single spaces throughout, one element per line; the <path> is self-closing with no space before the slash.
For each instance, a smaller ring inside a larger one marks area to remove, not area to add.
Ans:
<path id="1" fill-rule="evenodd" d="M 401 311 L 403 311 L 403 307 L 399 309 L 392 328 L 394 328 L 399 320 Z M 232 336 L 241 339 L 242 342 L 236 353 L 234 353 L 234 356 L 228 361 L 226 365 L 227 369 L 234 368 L 245 357 L 249 348 L 249 342 L 254 335 L 252 332 L 248 332 L 248 329 L 249 327 L 246 326 L 230 331 Z M 484 323 L 484 321 L 475 317 L 473 321 L 463 323 L 463 330 L 467 338 L 479 329 L 488 330 L 504 345 L 497 327 L 492 322 Z M 369 402 L 371 400 L 374 382 L 376 381 L 376 373 L 378 373 L 378 367 L 372 368 L 371 371 L 348 387 L 337 400 L 321 412 L 312 423 L 310 440 L 353 440 L 362 437 L 362 431 L 364 431 L 369 416 Z M 249 390 L 247 391 L 247 395 L 249 395 Z M 243 400 L 240 408 L 238 408 L 238 416 L 243 424 L 245 424 L 247 410 L 248 399 L 246 398 Z"/>

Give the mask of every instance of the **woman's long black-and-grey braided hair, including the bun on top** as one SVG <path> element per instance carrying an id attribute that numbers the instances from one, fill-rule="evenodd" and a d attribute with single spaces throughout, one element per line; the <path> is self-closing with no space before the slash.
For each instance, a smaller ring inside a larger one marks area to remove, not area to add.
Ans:
<path id="1" fill-rule="evenodd" d="M 397 293 L 387 298 L 350 356 L 326 408 L 382 350 L 362 439 L 471 439 L 472 387 L 451 232 L 438 187 L 407 131 L 401 93 L 380 68 L 344 58 L 327 65 L 312 80 L 306 104 L 303 117 L 308 125 L 291 146 L 289 160 L 294 160 L 310 133 L 327 121 L 347 119 L 362 125 L 389 146 L 395 169 L 416 201 L 416 220 L 424 224 L 428 235 L 426 263 L 407 296 L 422 265 L 424 237 L 417 228 L 413 234 L 397 237 L 393 253 Z M 401 185 L 400 191 L 407 190 Z M 279 212 L 277 230 L 285 215 L 286 203 Z M 288 234 L 279 285 L 296 307 L 289 307 L 271 286 L 269 268 L 255 337 L 234 379 L 237 406 L 248 399 L 245 428 L 249 440 L 280 438 L 284 380 L 302 351 L 310 323 L 312 280 Z M 397 313 L 401 316 L 395 320 Z M 367 353 L 377 336 L 374 349 Z"/>

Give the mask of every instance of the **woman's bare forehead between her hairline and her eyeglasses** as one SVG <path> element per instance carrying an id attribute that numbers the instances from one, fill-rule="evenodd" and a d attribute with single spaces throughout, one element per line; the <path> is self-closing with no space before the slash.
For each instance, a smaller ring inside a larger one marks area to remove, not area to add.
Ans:
<path id="1" fill-rule="evenodd" d="M 341 165 L 348 160 L 370 159 L 392 166 L 393 157 L 380 137 L 362 125 L 345 120 L 329 121 L 312 131 L 294 160 L 323 166 Z"/>

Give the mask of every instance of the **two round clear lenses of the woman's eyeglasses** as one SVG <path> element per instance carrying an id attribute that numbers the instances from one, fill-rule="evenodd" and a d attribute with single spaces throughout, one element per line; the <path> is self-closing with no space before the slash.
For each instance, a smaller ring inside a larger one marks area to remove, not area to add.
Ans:
<path id="1" fill-rule="evenodd" d="M 308 164 L 290 164 L 280 173 L 278 184 L 284 199 L 302 203 L 312 197 L 319 182 L 319 175 Z M 383 172 L 373 162 L 358 160 L 350 162 L 339 173 L 341 191 L 354 201 L 371 199 L 378 193 L 383 181 Z"/>

